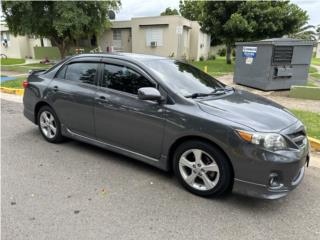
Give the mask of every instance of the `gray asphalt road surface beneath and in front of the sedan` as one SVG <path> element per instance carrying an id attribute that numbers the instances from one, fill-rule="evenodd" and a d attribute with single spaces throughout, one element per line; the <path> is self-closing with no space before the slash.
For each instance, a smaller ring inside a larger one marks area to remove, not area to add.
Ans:
<path id="1" fill-rule="evenodd" d="M 320 169 L 288 197 L 205 199 L 169 174 L 80 142 L 44 141 L 1 103 L 2 239 L 320 239 Z"/>

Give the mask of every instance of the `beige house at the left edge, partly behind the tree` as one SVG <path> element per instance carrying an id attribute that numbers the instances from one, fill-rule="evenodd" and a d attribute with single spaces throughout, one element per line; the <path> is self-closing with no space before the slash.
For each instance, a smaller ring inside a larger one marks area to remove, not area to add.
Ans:
<path id="1" fill-rule="evenodd" d="M 1 54 L 9 58 L 34 58 L 34 47 L 41 46 L 39 38 L 34 36 L 14 36 L 4 22 L 0 23 Z M 43 39 L 44 47 L 51 46 L 48 39 Z"/>

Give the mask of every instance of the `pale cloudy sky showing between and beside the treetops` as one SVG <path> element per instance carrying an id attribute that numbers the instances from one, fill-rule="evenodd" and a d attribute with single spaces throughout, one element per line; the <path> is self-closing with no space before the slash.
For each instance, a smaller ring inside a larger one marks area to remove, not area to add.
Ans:
<path id="1" fill-rule="evenodd" d="M 319 0 L 292 0 L 308 12 L 309 24 L 320 24 Z M 129 20 L 132 17 L 159 16 L 167 7 L 179 9 L 179 0 L 121 0 L 122 7 L 116 13 L 116 20 Z"/>

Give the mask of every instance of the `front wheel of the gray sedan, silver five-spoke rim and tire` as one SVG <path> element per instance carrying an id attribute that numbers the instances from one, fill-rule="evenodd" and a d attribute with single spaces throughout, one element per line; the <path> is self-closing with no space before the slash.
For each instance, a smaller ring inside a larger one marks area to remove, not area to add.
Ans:
<path id="1" fill-rule="evenodd" d="M 200 161 L 199 161 L 200 159 Z M 188 191 L 202 197 L 217 197 L 232 185 L 232 167 L 220 149 L 204 141 L 188 141 L 173 155 L 173 169 Z"/>

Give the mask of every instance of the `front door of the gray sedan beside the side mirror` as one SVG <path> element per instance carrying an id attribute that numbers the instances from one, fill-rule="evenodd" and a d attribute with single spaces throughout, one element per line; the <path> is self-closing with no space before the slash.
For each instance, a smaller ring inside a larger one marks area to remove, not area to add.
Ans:
<path id="1" fill-rule="evenodd" d="M 159 159 L 165 124 L 163 106 L 137 97 L 139 88 L 157 84 L 129 63 L 104 63 L 101 70 L 95 104 L 96 137 Z"/>

